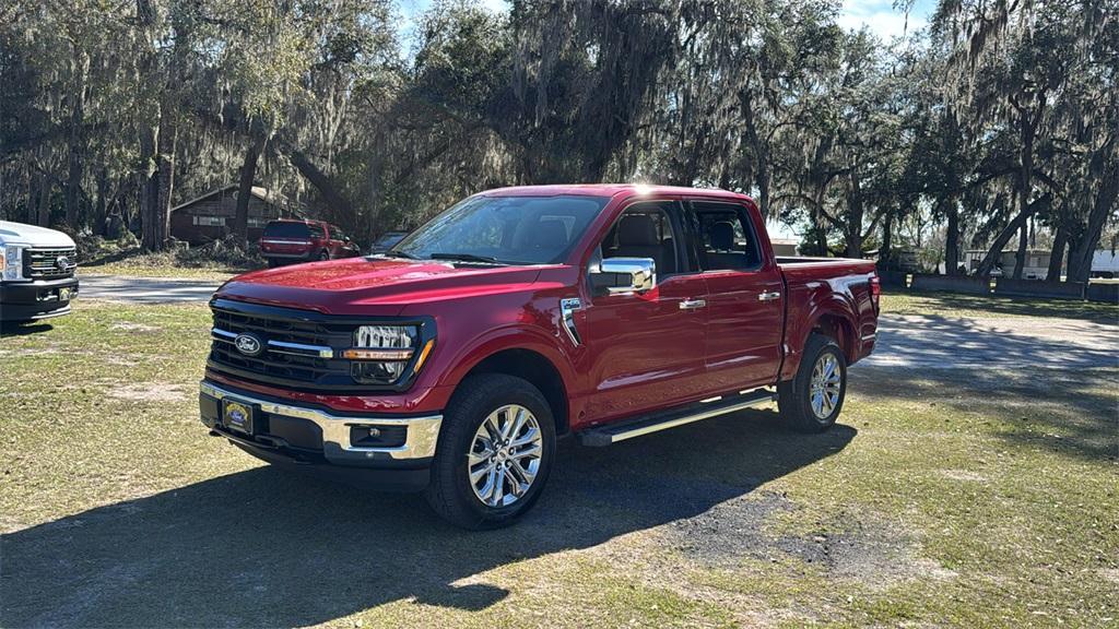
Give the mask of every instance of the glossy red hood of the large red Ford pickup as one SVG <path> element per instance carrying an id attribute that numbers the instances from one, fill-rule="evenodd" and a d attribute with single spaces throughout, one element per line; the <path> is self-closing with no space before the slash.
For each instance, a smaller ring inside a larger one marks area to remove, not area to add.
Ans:
<path id="1" fill-rule="evenodd" d="M 392 316 L 425 301 L 523 290 L 536 281 L 539 270 L 349 257 L 238 275 L 215 297 L 330 314 Z"/>

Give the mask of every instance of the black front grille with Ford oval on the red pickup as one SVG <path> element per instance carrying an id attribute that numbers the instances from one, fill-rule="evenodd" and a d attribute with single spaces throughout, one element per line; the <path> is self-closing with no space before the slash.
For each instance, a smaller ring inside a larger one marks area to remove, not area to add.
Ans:
<path id="1" fill-rule="evenodd" d="M 349 360 L 340 358 L 342 348 L 351 345 L 352 326 L 311 320 L 294 309 L 269 308 L 264 314 L 235 304 L 211 308 L 211 369 L 267 384 L 354 387 Z M 252 336 L 260 353 L 238 349 L 241 335 Z"/>

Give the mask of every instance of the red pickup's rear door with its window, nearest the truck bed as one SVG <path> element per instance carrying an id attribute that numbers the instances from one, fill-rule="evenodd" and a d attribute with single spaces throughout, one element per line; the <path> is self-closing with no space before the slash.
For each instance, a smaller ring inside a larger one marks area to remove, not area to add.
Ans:
<path id="1" fill-rule="evenodd" d="M 781 271 L 759 237 L 756 208 L 693 200 L 692 242 L 707 282 L 706 368 L 720 392 L 768 386 L 781 366 Z"/>

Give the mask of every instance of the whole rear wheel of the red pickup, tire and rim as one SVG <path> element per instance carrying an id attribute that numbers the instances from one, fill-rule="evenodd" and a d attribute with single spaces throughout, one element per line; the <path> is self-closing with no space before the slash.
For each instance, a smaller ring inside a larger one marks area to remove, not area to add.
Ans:
<path id="1" fill-rule="evenodd" d="M 847 360 L 830 337 L 814 334 L 805 344 L 800 368 L 778 385 L 781 417 L 802 432 L 821 432 L 836 423 L 847 394 Z"/>

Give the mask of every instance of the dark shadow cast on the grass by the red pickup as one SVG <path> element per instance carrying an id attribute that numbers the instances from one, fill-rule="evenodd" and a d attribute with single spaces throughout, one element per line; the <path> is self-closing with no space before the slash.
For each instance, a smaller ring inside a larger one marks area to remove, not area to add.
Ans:
<path id="1" fill-rule="evenodd" d="M 476 575 L 702 515 L 855 434 L 794 434 L 758 411 L 606 449 L 565 443 L 535 510 L 487 533 L 443 524 L 417 496 L 254 468 L 4 536 L 0 625 L 304 626 L 412 599 L 485 609 L 508 591 Z"/>

